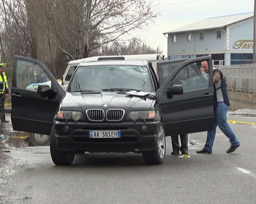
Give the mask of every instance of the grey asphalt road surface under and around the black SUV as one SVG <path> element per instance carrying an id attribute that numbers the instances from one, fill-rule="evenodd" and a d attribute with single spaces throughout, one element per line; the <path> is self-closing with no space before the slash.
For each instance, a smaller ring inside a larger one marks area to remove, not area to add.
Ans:
<path id="1" fill-rule="evenodd" d="M 243 113 L 247 113 L 244 111 Z M 256 123 L 252 117 L 229 120 Z M 256 125 L 230 124 L 241 146 L 231 154 L 218 129 L 212 154 L 197 154 L 206 132 L 189 135 L 188 159 L 167 155 L 145 165 L 141 154 L 76 155 L 71 166 L 55 166 L 49 147 L 8 148 L 1 165 L 0 203 L 212 204 L 256 203 Z"/>

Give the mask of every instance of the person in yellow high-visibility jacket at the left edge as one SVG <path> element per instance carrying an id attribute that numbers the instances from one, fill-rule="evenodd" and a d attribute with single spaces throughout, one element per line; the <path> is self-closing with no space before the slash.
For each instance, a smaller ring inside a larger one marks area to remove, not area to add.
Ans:
<path id="1" fill-rule="evenodd" d="M 5 74 L 6 64 L 0 64 L 0 118 L 1 123 L 9 123 L 8 120 L 5 119 L 5 97 L 9 97 L 9 87 L 8 81 Z"/>

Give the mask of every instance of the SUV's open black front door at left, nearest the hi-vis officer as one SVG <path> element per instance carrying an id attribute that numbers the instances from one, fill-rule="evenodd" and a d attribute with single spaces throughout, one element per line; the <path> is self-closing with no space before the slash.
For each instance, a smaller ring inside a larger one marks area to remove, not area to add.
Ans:
<path id="1" fill-rule="evenodd" d="M 53 94 L 41 97 L 40 86 L 51 87 Z M 65 91 L 43 63 L 27 57 L 14 57 L 11 89 L 14 130 L 50 135 L 54 115 L 64 94 Z"/>

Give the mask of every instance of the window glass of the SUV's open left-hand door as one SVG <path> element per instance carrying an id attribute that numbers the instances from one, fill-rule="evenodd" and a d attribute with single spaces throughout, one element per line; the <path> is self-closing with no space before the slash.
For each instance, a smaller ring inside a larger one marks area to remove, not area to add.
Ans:
<path id="1" fill-rule="evenodd" d="M 51 86 L 51 80 L 44 70 L 33 62 L 17 60 L 17 88 L 37 91 L 38 85 Z"/>

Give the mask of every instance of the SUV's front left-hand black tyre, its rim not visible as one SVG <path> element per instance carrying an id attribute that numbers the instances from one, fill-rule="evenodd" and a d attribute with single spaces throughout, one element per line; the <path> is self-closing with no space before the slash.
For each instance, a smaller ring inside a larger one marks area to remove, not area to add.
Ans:
<path id="1" fill-rule="evenodd" d="M 75 153 L 61 151 L 57 148 L 55 138 L 55 126 L 52 126 L 50 134 L 50 154 L 55 165 L 70 165 L 74 161 Z"/>

